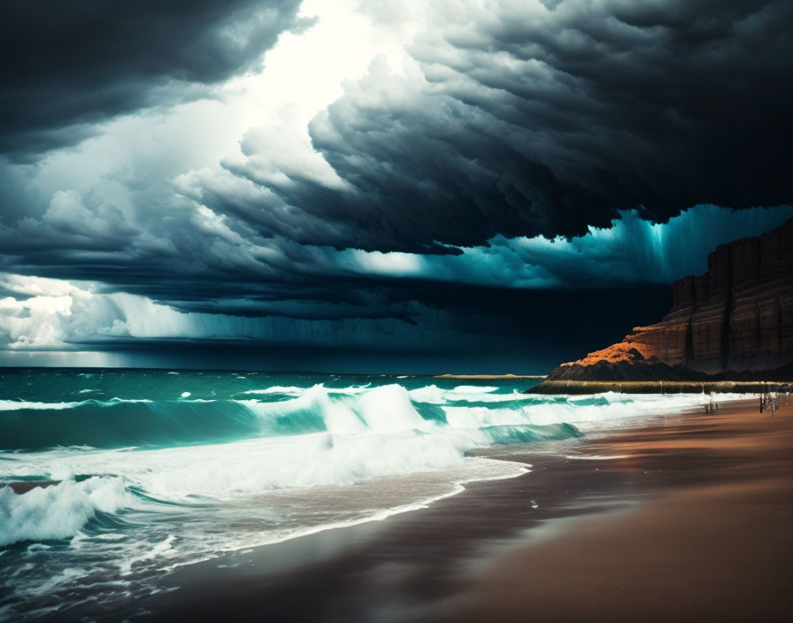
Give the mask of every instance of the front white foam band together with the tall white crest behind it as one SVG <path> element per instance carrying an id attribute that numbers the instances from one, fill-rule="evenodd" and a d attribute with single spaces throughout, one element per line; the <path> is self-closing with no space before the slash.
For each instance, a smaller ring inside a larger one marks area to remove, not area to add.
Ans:
<path id="1" fill-rule="evenodd" d="M 404 388 L 373 388 L 362 396 L 328 395 L 316 386 L 278 403 L 240 401 L 263 422 L 314 414 L 327 433 L 262 437 L 158 450 L 53 450 L 23 462 L 28 473 L 64 479 L 78 473 L 123 476 L 155 496 L 225 498 L 273 488 L 349 485 L 367 478 L 460 465 L 466 450 L 488 445 L 478 430 L 454 430 L 420 417 Z M 25 475 L 23 465 L 9 466 Z M 0 475 L 3 465 L 0 464 Z"/>

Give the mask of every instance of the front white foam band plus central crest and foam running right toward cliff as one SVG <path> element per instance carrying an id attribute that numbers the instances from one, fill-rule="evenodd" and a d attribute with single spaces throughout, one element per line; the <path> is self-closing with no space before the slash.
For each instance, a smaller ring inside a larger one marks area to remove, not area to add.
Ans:
<path id="1" fill-rule="evenodd" d="M 733 396 L 735 399 L 735 396 Z M 604 427 L 684 407 L 710 396 L 589 396 L 589 402 L 558 398 L 510 408 L 443 405 L 448 424 L 422 419 L 398 385 L 358 396 L 331 396 L 315 386 L 302 396 L 276 403 L 242 400 L 263 425 L 308 414 L 327 432 L 302 431 L 239 442 L 158 450 L 51 450 L 0 461 L 16 476 L 47 474 L 56 480 L 80 473 L 113 474 L 166 499 L 190 495 L 225 497 L 273 488 L 347 485 L 388 474 L 459 465 L 465 452 L 494 437 L 484 427 L 573 424 Z M 597 401 L 600 401 L 599 403 Z"/>

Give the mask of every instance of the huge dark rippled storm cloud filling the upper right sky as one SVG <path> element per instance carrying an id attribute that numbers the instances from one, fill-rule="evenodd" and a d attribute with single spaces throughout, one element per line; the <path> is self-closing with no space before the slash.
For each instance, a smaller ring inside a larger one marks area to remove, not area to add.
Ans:
<path id="1" fill-rule="evenodd" d="M 292 175 L 258 207 L 207 201 L 276 234 L 281 210 L 300 242 L 448 253 L 793 200 L 788 0 L 546 5 L 440 5 L 410 48 L 419 77 L 375 64 L 348 85 L 311 126 L 347 188 Z"/>

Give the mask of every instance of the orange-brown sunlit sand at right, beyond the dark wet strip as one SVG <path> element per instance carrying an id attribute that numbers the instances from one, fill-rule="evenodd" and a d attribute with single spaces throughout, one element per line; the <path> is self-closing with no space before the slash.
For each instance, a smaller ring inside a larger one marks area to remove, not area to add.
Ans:
<path id="1" fill-rule="evenodd" d="M 596 440 L 657 479 L 647 501 L 490 558 L 441 619 L 789 620 L 791 445 L 791 405 L 753 401 Z"/>

